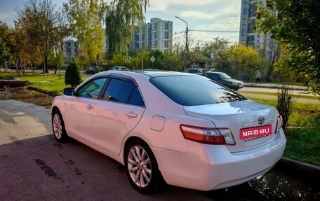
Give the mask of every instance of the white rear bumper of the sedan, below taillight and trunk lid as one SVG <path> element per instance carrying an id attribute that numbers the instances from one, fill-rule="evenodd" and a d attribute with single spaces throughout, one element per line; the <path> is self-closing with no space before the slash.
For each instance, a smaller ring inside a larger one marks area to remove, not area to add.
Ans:
<path id="1" fill-rule="evenodd" d="M 225 146 L 187 141 L 189 153 L 156 148 L 159 169 L 168 184 L 196 190 L 227 188 L 249 181 L 271 169 L 284 153 L 281 129 L 270 144 L 250 151 L 230 153 Z"/>

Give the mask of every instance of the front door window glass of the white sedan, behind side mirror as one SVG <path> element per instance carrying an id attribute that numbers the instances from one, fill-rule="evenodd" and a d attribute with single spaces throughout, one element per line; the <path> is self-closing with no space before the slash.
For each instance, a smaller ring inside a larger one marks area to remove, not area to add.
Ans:
<path id="1" fill-rule="evenodd" d="M 98 99 L 100 90 L 105 84 L 107 78 L 97 78 L 93 81 L 86 83 L 78 90 L 79 97 Z"/>

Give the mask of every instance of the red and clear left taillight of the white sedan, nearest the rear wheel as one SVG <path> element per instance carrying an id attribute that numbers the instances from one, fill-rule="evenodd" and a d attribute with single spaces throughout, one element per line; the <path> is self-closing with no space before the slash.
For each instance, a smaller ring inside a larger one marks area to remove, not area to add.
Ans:
<path id="1" fill-rule="evenodd" d="M 228 128 L 208 128 L 180 125 L 180 130 L 185 139 L 202 144 L 228 144 L 235 145 L 232 132 Z"/>

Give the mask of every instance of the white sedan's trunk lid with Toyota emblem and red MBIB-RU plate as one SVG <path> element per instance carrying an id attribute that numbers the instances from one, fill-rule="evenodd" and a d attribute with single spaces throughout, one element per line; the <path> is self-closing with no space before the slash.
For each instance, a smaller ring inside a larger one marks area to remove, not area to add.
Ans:
<path id="1" fill-rule="evenodd" d="M 184 106 L 189 116 L 211 120 L 218 128 L 229 128 L 236 144 L 227 145 L 230 152 L 248 151 L 264 146 L 275 137 L 276 110 L 273 106 L 251 100 Z"/>

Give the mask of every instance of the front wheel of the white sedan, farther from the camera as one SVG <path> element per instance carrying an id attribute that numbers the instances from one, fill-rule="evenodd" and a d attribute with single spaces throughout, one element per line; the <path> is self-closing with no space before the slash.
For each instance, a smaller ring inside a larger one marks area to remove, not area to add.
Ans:
<path id="1" fill-rule="evenodd" d="M 65 123 L 63 122 L 62 115 L 58 109 L 53 111 L 51 123 L 55 139 L 59 142 L 67 141 L 68 135 L 65 131 Z"/>

